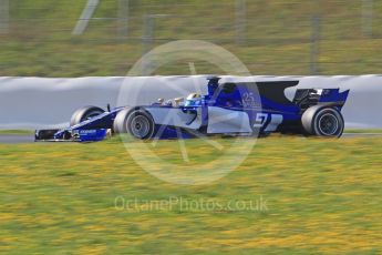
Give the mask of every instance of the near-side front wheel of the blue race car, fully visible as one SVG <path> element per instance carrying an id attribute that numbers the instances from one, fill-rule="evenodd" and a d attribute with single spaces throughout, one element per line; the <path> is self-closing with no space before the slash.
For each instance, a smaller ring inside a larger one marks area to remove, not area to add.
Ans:
<path id="1" fill-rule="evenodd" d="M 113 129 L 115 133 L 128 133 L 140 140 L 148 140 L 155 135 L 154 119 L 142 109 L 124 109 L 118 112 Z"/>

